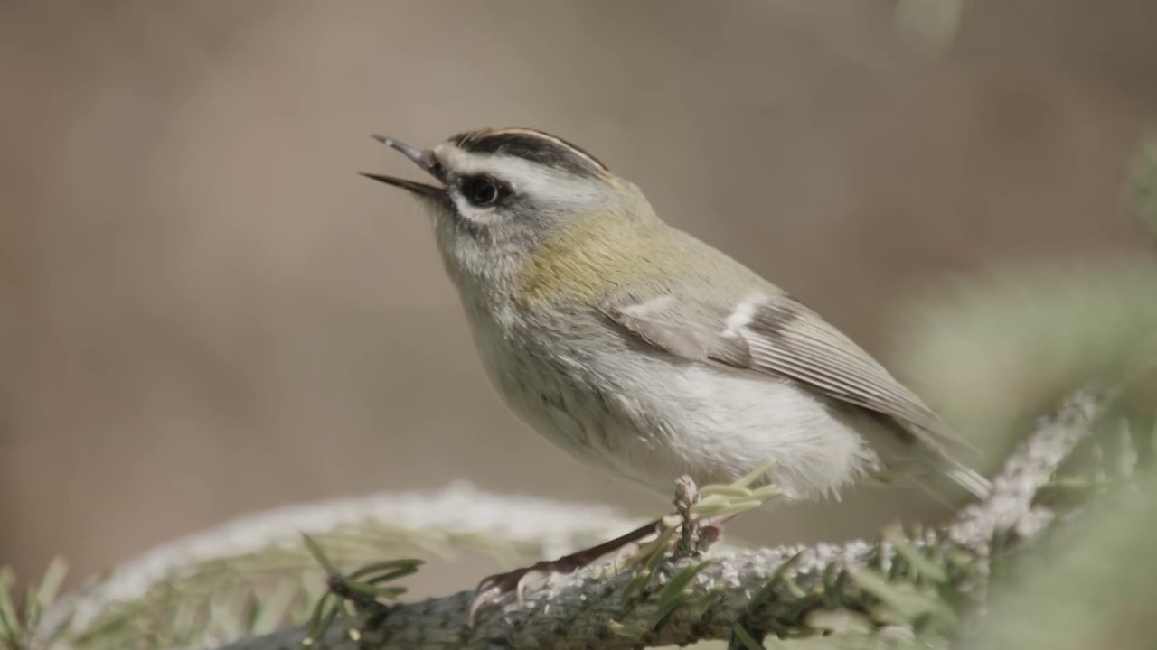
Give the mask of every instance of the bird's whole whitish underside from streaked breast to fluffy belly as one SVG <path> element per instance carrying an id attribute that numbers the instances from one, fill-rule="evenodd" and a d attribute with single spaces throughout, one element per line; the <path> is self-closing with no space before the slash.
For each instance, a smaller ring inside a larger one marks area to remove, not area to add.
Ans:
<path id="1" fill-rule="evenodd" d="M 510 324 L 471 318 L 482 363 L 510 408 L 576 459 L 661 494 L 688 474 L 729 482 L 775 459 L 767 479 L 788 497 L 839 497 L 879 467 L 868 418 L 787 381 L 621 345 L 603 354 L 536 352 Z M 600 348 L 602 349 L 602 348 Z"/>

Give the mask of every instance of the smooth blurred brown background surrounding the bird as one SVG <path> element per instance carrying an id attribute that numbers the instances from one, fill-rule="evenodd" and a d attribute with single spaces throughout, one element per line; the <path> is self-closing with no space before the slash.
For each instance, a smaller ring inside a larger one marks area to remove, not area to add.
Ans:
<path id="1" fill-rule="evenodd" d="M 975 0 L 942 60 L 892 5 L 0 2 L 0 563 L 79 576 L 455 479 L 664 507 L 499 402 L 421 215 L 354 175 L 408 172 L 371 132 L 575 140 L 885 360 L 914 290 L 1140 245 L 1119 187 L 1157 3 Z M 860 494 L 732 534 L 935 508 Z"/>

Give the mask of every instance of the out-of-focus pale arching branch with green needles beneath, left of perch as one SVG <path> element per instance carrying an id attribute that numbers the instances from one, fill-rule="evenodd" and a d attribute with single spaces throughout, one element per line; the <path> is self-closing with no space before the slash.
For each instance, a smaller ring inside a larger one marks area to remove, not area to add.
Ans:
<path id="1" fill-rule="evenodd" d="M 340 569 L 354 570 L 414 554 L 482 553 L 517 562 L 581 548 L 634 525 L 607 507 L 496 496 L 467 483 L 433 494 L 288 505 L 116 567 L 49 608 L 32 641 L 13 650 L 208 647 L 301 623 L 326 589 L 302 533 Z"/>

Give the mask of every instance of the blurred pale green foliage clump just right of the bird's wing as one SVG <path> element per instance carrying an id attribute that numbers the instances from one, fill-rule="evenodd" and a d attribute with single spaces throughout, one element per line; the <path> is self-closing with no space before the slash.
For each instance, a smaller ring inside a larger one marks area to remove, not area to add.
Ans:
<path id="1" fill-rule="evenodd" d="M 1007 449 L 1064 396 L 1144 357 L 1154 296 L 1148 259 L 1004 266 L 914 305 L 894 367 L 970 440 Z"/>

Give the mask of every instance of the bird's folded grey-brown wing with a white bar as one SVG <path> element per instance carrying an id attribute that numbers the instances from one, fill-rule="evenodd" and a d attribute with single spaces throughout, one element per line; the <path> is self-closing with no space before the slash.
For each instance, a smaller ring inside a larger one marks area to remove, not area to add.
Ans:
<path id="1" fill-rule="evenodd" d="M 867 352 L 790 296 L 759 294 L 738 303 L 664 296 L 609 305 L 604 313 L 671 354 L 787 377 L 891 418 L 913 442 L 964 472 L 953 477 L 960 485 L 978 495 L 987 492 L 987 481 L 955 458 L 971 445 Z"/>

